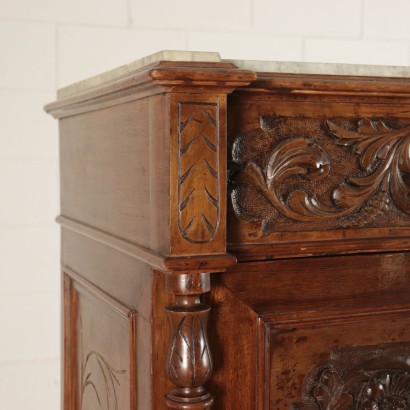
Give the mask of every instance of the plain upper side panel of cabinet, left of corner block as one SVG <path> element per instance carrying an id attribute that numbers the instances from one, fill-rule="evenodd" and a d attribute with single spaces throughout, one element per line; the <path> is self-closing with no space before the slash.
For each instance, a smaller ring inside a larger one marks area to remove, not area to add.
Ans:
<path id="1" fill-rule="evenodd" d="M 169 234 L 156 232 L 152 243 L 150 236 L 152 227 L 167 221 L 162 101 L 145 98 L 60 121 L 62 215 L 147 248 L 167 249 Z"/>

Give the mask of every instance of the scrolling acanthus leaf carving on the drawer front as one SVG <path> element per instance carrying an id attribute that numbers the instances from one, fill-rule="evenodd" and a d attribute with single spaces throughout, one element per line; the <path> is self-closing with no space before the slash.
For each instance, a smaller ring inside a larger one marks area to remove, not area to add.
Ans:
<path id="1" fill-rule="evenodd" d="M 261 221 L 266 234 L 279 215 L 308 223 L 329 220 L 335 227 L 360 227 L 387 211 L 391 201 L 410 215 L 410 127 L 391 129 L 383 121 L 363 119 L 357 131 L 329 120 L 324 129 L 338 145 L 359 156 L 362 175 L 349 176 L 333 188 L 331 205 L 305 189 L 284 194 L 286 183 L 295 177 L 319 183 L 329 175 L 332 164 L 324 148 L 313 138 L 281 137 L 261 166 L 253 160 L 239 160 L 242 140 L 238 137 L 233 145 L 236 164 L 230 185 L 239 218 Z M 246 200 L 249 190 L 259 195 L 257 204 L 256 197 Z"/>

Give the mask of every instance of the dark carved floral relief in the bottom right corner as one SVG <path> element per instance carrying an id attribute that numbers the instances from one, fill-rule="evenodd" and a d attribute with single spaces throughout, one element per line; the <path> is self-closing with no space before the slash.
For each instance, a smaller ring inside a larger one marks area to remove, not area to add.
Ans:
<path id="1" fill-rule="evenodd" d="M 306 378 L 301 410 L 410 408 L 410 344 L 336 349 Z"/>

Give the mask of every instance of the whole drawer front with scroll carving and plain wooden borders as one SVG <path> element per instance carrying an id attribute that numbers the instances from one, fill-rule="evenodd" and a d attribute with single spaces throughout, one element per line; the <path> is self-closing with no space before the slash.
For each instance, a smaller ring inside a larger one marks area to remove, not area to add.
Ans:
<path id="1" fill-rule="evenodd" d="M 388 98 L 232 96 L 231 252 L 254 260 L 408 249 L 409 112 Z"/>

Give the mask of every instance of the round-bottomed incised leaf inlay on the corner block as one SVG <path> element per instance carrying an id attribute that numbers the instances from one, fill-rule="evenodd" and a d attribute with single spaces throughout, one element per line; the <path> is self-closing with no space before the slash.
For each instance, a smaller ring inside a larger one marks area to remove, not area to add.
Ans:
<path id="1" fill-rule="evenodd" d="M 178 227 L 191 243 L 212 241 L 219 225 L 216 103 L 179 104 Z"/>

